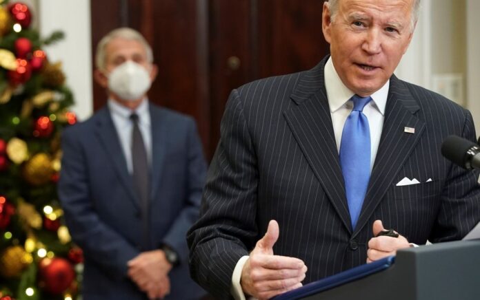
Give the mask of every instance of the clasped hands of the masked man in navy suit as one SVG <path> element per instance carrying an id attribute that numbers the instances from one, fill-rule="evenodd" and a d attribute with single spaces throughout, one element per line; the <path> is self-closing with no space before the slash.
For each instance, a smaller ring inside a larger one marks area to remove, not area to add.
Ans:
<path id="1" fill-rule="evenodd" d="M 128 261 L 128 276 L 149 299 L 163 298 L 170 293 L 168 272 L 171 268 L 163 250 L 152 250 Z"/>

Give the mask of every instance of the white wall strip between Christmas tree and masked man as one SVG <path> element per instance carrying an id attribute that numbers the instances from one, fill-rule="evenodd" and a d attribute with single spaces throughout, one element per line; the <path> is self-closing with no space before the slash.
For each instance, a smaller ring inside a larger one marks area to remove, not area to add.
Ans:
<path id="1" fill-rule="evenodd" d="M 50 61 L 63 63 L 63 72 L 75 99 L 72 111 L 79 120 L 85 120 L 93 111 L 90 1 L 38 0 L 35 5 L 41 36 L 54 30 L 66 35 L 44 50 Z"/>

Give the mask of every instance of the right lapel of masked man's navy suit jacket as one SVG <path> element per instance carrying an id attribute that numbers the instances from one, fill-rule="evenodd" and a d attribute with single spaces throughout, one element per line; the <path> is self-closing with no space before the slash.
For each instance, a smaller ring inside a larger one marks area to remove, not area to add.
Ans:
<path id="1" fill-rule="evenodd" d="M 167 138 L 167 122 L 166 116 L 162 114 L 161 109 L 150 104 L 150 122 L 152 126 L 152 178 L 150 179 L 150 199 L 156 199 L 159 182 L 161 180 L 161 171 L 163 169 L 163 161 L 166 156 Z"/>

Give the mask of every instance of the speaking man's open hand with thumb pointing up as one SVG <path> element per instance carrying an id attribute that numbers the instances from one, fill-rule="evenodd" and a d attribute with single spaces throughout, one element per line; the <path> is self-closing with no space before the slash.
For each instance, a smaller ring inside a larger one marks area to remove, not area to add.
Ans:
<path id="1" fill-rule="evenodd" d="M 277 294 L 302 286 L 307 266 L 294 257 L 273 255 L 273 245 L 279 238 L 279 224 L 271 220 L 266 234 L 257 242 L 241 272 L 241 288 L 257 299 L 269 299 Z"/>

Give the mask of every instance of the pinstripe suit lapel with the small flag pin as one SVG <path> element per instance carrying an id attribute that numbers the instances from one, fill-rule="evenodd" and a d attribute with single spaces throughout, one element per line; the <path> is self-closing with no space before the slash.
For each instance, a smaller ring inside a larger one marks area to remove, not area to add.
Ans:
<path id="1" fill-rule="evenodd" d="M 386 191 L 394 184 L 395 175 L 420 140 L 425 122 L 414 115 L 419 109 L 406 85 L 392 76 L 377 158 L 354 235 L 366 226 Z M 414 133 L 406 133 L 405 127 L 414 128 Z"/>

